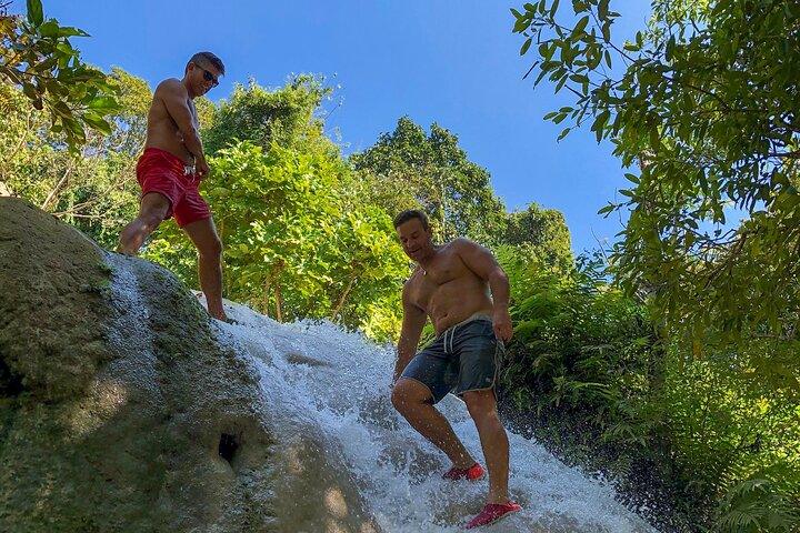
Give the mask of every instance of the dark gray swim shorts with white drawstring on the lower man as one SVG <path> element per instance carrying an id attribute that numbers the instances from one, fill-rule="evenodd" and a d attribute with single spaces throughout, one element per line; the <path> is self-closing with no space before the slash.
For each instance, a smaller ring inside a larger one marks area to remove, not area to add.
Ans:
<path id="1" fill-rule="evenodd" d="M 444 330 L 411 360 L 401 378 L 426 385 L 438 403 L 449 392 L 493 389 L 502 353 L 491 319 L 478 314 Z"/>

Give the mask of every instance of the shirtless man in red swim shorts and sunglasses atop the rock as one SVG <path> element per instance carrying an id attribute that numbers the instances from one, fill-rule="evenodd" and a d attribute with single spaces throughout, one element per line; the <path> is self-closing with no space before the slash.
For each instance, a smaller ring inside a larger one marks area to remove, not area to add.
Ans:
<path id="1" fill-rule="evenodd" d="M 224 74 L 222 61 L 211 52 L 192 56 L 182 80 L 159 83 L 148 113 L 144 153 L 137 164 L 142 195 L 139 217 L 120 234 L 118 251 L 136 255 L 161 221 L 176 222 L 198 250 L 200 288 L 209 314 L 227 320 L 222 309 L 222 243 L 217 234 L 208 203 L 198 191 L 209 173 L 198 131 L 194 100 L 219 84 Z"/>

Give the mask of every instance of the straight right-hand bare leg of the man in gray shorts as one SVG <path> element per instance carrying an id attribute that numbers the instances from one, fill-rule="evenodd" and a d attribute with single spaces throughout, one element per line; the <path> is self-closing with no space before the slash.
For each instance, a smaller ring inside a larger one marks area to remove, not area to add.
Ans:
<path id="1" fill-rule="evenodd" d="M 488 503 L 506 503 L 509 501 L 509 444 L 497 412 L 494 391 L 464 392 L 463 400 L 478 429 L 489 470 Z"/>

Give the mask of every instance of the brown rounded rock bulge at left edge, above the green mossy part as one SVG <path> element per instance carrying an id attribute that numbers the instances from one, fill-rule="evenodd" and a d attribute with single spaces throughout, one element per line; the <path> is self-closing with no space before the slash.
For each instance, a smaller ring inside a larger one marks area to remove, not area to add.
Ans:
<path id="1" fill-rule="evenodd" d="M 0 198 L 0 391 L 42 401 L 86 389 L 111 358 L 100 249 L 22 201 Z"/>

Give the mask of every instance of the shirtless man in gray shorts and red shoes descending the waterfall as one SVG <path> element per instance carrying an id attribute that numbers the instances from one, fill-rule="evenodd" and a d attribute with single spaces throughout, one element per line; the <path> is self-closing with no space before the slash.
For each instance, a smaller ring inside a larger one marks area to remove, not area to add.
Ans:
<path id="1" fill-rule="evenodd" d="M 444 479 L 478 481 L 483 467 L 433 406 L 449 392 L 463 399 L 489 470 L 487 505 L 467 527 L 487 525 L 521 509 L 509 500 L 509 443 L 494 395 L 498 356 L 512 334 L 508 278 L 492 254 L 470 240 L 433 244 L 421 211 L 398 214 L 394 229 L 417 269 L 402 291 L 392 404 L 450 457 Z M 428 318 L 437 338 L 414 354 Z"/>

